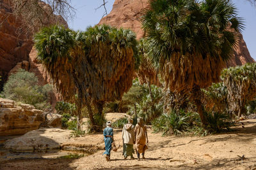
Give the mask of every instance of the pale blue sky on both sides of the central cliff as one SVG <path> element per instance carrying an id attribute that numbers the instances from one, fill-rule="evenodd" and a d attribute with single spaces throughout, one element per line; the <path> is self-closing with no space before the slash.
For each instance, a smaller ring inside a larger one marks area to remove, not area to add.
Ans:
<path id="1" fill-rule="evenodd" d="M 115 0 L 106 0 L 108 13 L 112 10 Z M 246 0 L 232 0 L 238 10 L 238 16 L 244 20 L 245 28 L 242 32 L 247 48 L 256 60 L 256 6 Z M 76 17 L 68 22 L 71 29 L 84 31 L 86 27 L 98 24 L 104 8 L 95 10 L 102 4 L 102 0 L 72 0 L 72 6 L 76 8 Z"/>

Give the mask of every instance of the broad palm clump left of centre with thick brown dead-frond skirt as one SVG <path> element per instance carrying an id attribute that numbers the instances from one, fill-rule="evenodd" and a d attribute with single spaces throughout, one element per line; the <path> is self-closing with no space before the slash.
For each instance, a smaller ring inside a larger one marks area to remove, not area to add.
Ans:
<path id="1" fill-rule="evenodd" d="M 63 99 L 75 101 L 79 120 L 81 108 L 87 106 L 94 127 L 91 103 L 102 117 L 104 103 L 121 99 L 132 86 L 138 60 L 132 31 L 96 25 L 75 32 L 53 26 L 35 35 L 35 46 Z"/>

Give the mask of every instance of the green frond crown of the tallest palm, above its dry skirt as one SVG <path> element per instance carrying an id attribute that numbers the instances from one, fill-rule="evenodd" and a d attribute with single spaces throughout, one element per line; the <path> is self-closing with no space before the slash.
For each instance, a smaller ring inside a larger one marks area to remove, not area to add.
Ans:
<path id="1" fill-rule="evenodd" d="M 175 52 L 228 59 L 237 42 L 236 32 L 243 29 L 236 7 L 225 0 L 153 0 L 141 20 L 149 40 L 148 54 L 158 66 Z M 228 31 L 229 25 L 236 32 Z"/>

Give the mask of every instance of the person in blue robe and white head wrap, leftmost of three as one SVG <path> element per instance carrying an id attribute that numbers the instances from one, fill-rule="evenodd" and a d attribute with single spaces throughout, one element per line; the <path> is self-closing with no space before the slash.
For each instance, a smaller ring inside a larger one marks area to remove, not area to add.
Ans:
<path id="1" fill-rule="evenodd" d="M 114 141 L 114 136 L 113 136 L 113 128 L 111 127 L 111 122 L 107 122 L 107 127 L 103 131 L 104 135 L 104 142 L 105 142 L 105 152 L 103 153 L 106 154 L 106 160 L 110 160 L 110 152 L 111 152 L 111 144 Z"/>

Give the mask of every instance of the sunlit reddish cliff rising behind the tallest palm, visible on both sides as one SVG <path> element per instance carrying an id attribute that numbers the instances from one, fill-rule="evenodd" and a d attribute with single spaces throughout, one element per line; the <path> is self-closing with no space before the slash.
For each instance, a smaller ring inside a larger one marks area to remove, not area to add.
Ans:
<path id="1" fill-rule="evenodd" d="M 99 24 L 108 24 L 115 27 L 131 29 L 137 34 L 137 39 L 145 36 L 141 29 L 140 17 L 147 7 L 148 0 L 115 0 L 113 10 L 107 17 L 102 18 Z M 227 67 L 243 65 L 246 62 L 255 62 L 251 57 L 242 34 L 239 35 L 239 45 L 234 48 L 234 57 L 227 62 Z"/>

